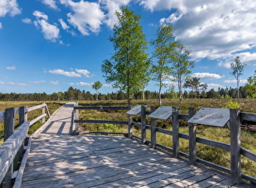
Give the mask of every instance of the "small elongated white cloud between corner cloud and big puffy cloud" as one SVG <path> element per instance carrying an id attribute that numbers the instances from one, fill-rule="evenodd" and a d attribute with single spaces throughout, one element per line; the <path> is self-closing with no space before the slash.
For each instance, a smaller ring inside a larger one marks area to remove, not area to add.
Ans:
<path id="1" fill-rule="evenodd" d="M 44 38 L 56 42 L 59 38 L 59 28 L 47 22 L 48 16 L 40 11 L 34 11 L 33 15 L 36 17 L 34 21 L 35 26 L 41 29 Z"/>

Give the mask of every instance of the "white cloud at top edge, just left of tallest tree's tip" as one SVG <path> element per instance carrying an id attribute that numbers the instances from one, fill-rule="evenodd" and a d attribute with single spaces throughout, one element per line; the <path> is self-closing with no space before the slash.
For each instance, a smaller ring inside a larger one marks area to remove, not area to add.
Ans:
<path id="1" fill-rule="evenodd" d="M 104 23 L 107 26 L 112 28 L 114 24 L 118 23 L 118 19 L 115 15 L 115 12 L 120 11 L 121 6 L 128 5 L 131 1 L 130 0 L 99 0 L 99 2 L 108 11 L 108 13 L 106 14 L 106 19 Z"/>

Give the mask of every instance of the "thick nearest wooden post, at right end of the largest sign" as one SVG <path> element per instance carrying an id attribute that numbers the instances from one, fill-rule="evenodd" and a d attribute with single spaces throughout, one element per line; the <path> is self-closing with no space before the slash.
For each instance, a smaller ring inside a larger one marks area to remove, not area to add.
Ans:
<path id="1" fill-rule="evenodd" d="M 241 121 L 238 109 L 230 109 L 230 170 L 231 179 L 241 182 Z"/>

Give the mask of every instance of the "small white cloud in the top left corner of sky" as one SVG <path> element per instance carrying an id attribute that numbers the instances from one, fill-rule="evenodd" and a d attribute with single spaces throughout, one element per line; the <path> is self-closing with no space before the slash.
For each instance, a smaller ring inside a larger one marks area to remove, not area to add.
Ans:
<path id="1" fill-rule="evenodd" d="M 10 14 L 11 17 L 14 17 L 17 14 L 21 14 L 19 5 L 16 0 L 0 1 L 0 17 L 5 17 L 6 14 Z"/>

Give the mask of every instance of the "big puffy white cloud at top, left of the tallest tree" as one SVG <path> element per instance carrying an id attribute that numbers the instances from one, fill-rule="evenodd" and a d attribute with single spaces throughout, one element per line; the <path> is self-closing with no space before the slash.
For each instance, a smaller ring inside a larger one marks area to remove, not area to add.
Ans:
<path id="1" fill-rule="evenodd" d="M 98 3 L 84 2 L 84 0 L 80 2 L 60 0 L 60 3 L 72 9 L 73 13 L 67 14 L 68 21 L 82 35 L 90 35 L 90 32 L 99 32 L 105 15 Z"/>

